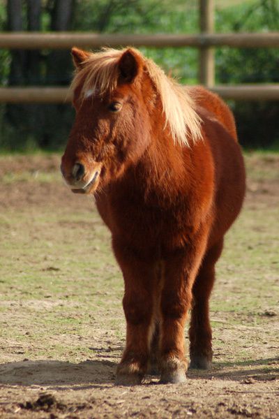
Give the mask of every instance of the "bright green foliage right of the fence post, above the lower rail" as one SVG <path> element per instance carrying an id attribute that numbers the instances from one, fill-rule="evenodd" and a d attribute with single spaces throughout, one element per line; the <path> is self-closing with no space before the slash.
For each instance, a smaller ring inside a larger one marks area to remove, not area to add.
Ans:
<path id="1" fill-rule="evenodd" d="M 266 32 L 279 29 L 279 4 L 273 0 L 254 0 L 237 8 L 216 12 L 216 31 Z M 278 82 L 277 48 L 228 48 L 216 50 L 217 82 Z"/>

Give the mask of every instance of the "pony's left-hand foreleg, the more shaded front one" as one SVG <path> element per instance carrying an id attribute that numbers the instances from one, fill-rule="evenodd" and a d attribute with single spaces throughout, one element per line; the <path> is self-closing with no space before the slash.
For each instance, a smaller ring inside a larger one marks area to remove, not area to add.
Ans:
<path id="1" fill-rule="evenodd" d="M 116 384 L 140 384 L 149 362 L 153 335 L 153 272 L 151 263 L 115 252 L 123 272 L 126 348 L 116 371 Z"/>

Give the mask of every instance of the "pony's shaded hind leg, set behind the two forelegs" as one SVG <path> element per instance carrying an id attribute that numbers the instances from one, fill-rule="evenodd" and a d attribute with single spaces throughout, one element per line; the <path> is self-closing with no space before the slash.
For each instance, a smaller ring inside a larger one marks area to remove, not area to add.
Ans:
<path id="1" fill-rule="evenodd" d="M 190 368 L 210 369 L 212 362 L 209 297 L 215 279 L 215 264 L 223 249 L 223 239 L 204 256 L 193 285 L 193 308 L 190 320 Z"/>

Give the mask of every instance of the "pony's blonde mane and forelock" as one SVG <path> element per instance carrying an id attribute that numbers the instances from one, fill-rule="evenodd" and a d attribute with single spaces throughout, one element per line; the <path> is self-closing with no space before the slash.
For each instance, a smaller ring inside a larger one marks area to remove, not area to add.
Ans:
<path id="1" fill-rule="evenodd" d="M 81 98 L 86 98 L 89 91 L 98 91 L 100 96 L 107 91 L 112 92 L 117 87 L 119 79 L 119 59 L 124 50 L 107 48 L 101 52 L 92 53 L 83 63 L 83 68 L 77 71 L 70 86 L 74 91 L 82 85 Z M 165 126 L 169 127 L 174 141 L 189 147 L 189 138 L 194 142 L 201 135 L 201 119 L 195 112 L 195 104 L 190 98 L 187 88 L 167 77 L 164 71 L 151 59 L 146 59 L 138 50 L 133 50 L 137 57 L 144 61 L 151 81 L 163 105 Z"/>

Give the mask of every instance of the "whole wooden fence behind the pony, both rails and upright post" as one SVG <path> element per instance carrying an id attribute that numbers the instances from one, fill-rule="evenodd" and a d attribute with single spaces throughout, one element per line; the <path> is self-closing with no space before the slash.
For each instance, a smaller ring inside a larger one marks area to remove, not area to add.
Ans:
<path id="1" fill-rule="evenodd" d="M 2 33 L 0 48 L 27 50 L 59 50 L 77 47 L 195 47 L 199 48 L 199 82 L 225 99 L 278 101 L 279 84 L 214 84 L 214 47 L 279 47 L 279 31 L 263 34 L 213 34 L 213 0 L 199 0 L 201 33 L 186 34 L 93 34 L 73 32 Z M 2 103 L 67 103 L 68 89 L 62 87 L 1 87 Z"/>

